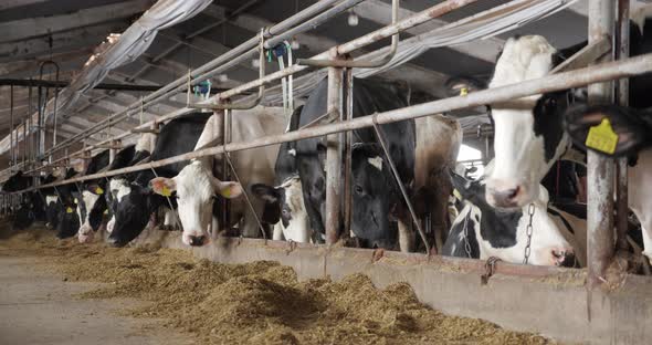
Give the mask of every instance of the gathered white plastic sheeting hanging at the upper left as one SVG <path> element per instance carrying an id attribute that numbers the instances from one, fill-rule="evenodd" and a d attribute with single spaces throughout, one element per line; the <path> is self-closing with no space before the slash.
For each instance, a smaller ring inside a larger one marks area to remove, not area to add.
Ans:
<path id="1" fill-rule="evenodd" d="M 122 35 L 111 35 L 98 46 L 84 69 L 59 93 L 56 114 L 62 115 L 75 104 L 84 92 L 95 87 L 114 69 L 134 62 L 154 42 L 159 30 L 186 21 L 206 9 L 212 0 L 159 0 Z M 45 107 L 45 123 L 53 114 L 53 101 Z M 32 122 L 38 123 L 38 113 Z M 22 139 L 22 126 L 14 130 Z M 9 136 L 0 142 L 0 153 L 9 149 Z"/>

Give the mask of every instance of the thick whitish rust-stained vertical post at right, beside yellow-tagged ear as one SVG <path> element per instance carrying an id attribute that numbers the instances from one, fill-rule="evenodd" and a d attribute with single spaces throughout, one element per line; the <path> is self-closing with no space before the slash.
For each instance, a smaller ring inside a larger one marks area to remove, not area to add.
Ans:
<path id="1" fill-rule="evenodd" d="M 611 0 L 589 1 L 589 44 L 608 35 L 612 38 L 616 3 Z M 611 60 L 611 55 L 599 62 Z M 588 87 L 591 104 L 612 103 L 612 83 Z M 600 283 L 613 255 L 613 160 L 588 153 L 588 221 L 587 249 L 589 284 Z"/>

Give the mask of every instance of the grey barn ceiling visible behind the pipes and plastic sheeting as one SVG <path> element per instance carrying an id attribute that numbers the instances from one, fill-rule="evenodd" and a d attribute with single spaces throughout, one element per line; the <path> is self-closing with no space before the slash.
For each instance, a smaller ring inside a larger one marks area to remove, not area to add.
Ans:
<path id="1" fill-rule="evenodd" d="M 3 0 L 0 2 L 0 79 L 39 79 L 41 62 L 53 60 L 61 66 L 60 80 L 70 81 L 76 71 L 109 33 L 125 31 L 139 18 L 154 0 Z M 188 69 L 223 54 L 225 51 L 252 38 L 261 27 L 276 23 L 311 6 L 316 0 L 215 0 L 201 14 L 176 27 L 161 31 L 146 54 L 136 62 L 114 70 L 104 82 L 143 85 L 162 85 L 181 75 Z M 407 17 L 437 2 L 432 0 L 401 1 L 400 17 Z M 484 0 L 443 18 L 409 30 L 409 38 L 448 22 L 508 2 Z M 587 4 L 579 4 L 534 24 L 505 33 L 498 38 L 454 48 L 434 49 L 398 70 L 386 72 L 383 77 L 401 79 L 413 88 L 434 96 L 444 94 L 443 83 L 451 76 L 472 76 L 485 81 L 504 40 L 515 33 L 546 35 L 553 44 L 566 46 L 586 38 Z M 295 55 L 307 58 L 381 28 L 390 22 L 390 0 L 367 0 L 355 8 L 359 17 L 357 27 L 347 24 L 347 13 L 297 36 L 301 45 Z M 233 13 L 238 13 L 233 15 Z M 227 21 L 219 24 L 220 20 Z M 381 42 L 367 50 L 382 46 Z M 51 80 L 52 71 L 43 79 Z M 213 80 L 215 87 L 232 87 L 251 81 L 257 69 L 246 63 L 227 73 L 228 79 Z M 10 128 L 9 86 L 0 86 L 0 135 Z M 83 132 L 87 126 L 136 102 L 139 92 L 91 91 L 77 102 L 75 109 L 60 121 L 63 138 Z M 36 91 L 30 102 L 28 87 L 14 87 L 14 124 L 35 109 Z M 182 100 L 180 97 L 179 100 Z M 168 100 L 149 108 L 145 117 L 154 118 L 182 106 Z M 137 125 L 137 119 L 116 125 L 112 134 Z M 88 143 L 103 139 L 95 135 Z M 0 138 L 1 138 L 0 137 Z"/>

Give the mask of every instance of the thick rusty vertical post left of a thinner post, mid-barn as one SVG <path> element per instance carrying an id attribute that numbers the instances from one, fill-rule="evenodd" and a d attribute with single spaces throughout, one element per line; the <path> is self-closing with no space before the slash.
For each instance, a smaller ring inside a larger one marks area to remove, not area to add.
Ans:
<path id="1" fill-rule="evenodd" d="M 332 53 L 333 59 L 337 55 Z M 326 112 L 337 114 L 340 118 L 343 114 L 341 97 L 343 70 L 338 67 L 328 67 L 328 100 Z M 340 220 L 340 201 L 341 201 L 341 134 L 330 134 L 326 136 L 326 244 L 332 245 L 337 242 L 339 220 Z"/>

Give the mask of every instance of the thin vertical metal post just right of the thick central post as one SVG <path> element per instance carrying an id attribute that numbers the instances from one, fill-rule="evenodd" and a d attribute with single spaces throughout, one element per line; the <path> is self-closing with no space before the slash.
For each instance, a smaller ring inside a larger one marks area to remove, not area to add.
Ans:
<path id="1" fill-rule="evenodd" d="M 341 119 L 349 121 L 354 118 L 354 70 L 345 70 L 344 81 L 344 116 Z M 348 236 L 351 229 L 353 197 L 351 197 L 351 147 L 353 132 L 347 130 L 344 134 L 344 231 L 343 236 Z"/>

